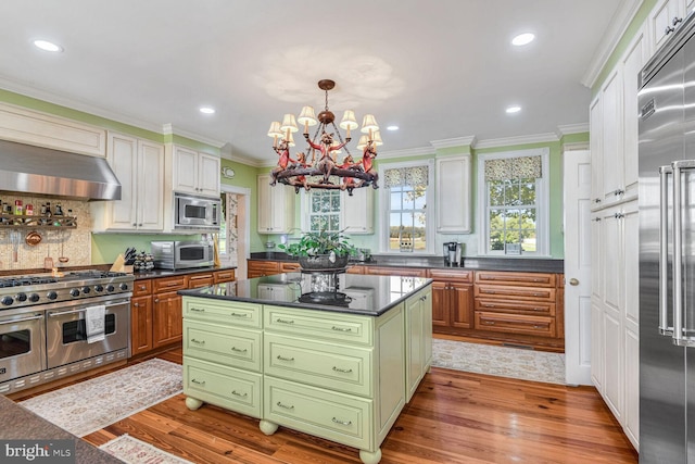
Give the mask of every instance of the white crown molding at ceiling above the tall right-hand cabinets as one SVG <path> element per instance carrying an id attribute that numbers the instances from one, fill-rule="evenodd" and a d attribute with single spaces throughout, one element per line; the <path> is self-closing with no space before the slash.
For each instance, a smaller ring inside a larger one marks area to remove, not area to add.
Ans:
<path id="1" fill-rule="evenodd" d="M 608 28 L 601 38 L 596 52 L 589 64 L 589 68 L 582 77 L 582 85 L 592 88 L 596 84 L 601 71 L 616 50 L 618 42 L 626 34 L 643 2 L 644 0 L 622 0 L 620 7 L 618 7 L 618 10 L 610 18 Z"/>

